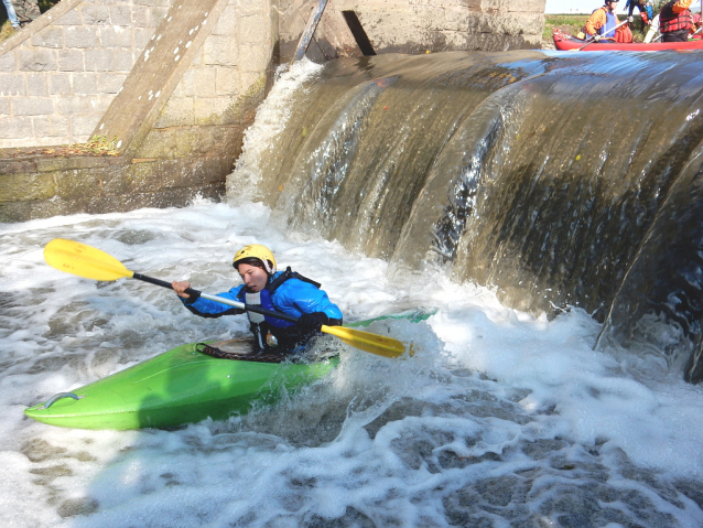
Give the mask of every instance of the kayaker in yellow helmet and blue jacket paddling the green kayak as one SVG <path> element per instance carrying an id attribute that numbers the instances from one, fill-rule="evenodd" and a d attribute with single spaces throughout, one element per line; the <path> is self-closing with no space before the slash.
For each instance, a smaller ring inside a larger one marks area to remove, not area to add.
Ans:
<path id="1" fill-rule="evenodd" d="M 257 352 L 291 353 L 302 349 L 307 341 L 320 335 L 321 326 L 342 324 L 342 311 L 329 301 L 320 284 L 288 268 L 275 270 L 275 258 L 269 248 L 258 244 L 246 246 L 235 255 L 232 266 L 244 284 L 218 293 L 218 297 L 255 304 L 300 317 L 298 323 L 247 312 Z M 185 293 L 188 281 L 173 281 L 181 301 L 191 312 L 202 317 L 219 317 L 244 313 L 226 304 L 192 299 Z"/>

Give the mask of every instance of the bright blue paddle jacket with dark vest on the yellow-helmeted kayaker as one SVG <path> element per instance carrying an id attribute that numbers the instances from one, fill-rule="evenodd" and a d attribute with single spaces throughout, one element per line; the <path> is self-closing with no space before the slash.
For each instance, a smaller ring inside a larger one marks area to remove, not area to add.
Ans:
<path id="1" fill-rule="evenodd" d="M 323 312 L 329 317 L 329 324 L 342 324 L 342 311 L 329 301 L 327 293 L 321 290 L 316 282 L 291 272 L 290 268 L 271 276 L 266 289 L 260 294 L 252 294 L 247 291 L 245 284 L 240 284 L 217 295 L 245 304 L 258 304 L 261 308 L 294 317 L 300 317 L 304 313 Z M 258 302 L 252 302 L 253 297 L 258 298 Z M 202 317 L 220 317 L 244 312 L 244 310 L 203 298 L 180 299 L 192 313 Z M 295 323 L 268 315 L 263 317 L 252 312 L 247 312 L 247 314 L 251 323 L 251 332 L 256 337 L 257 348 L 260 351 L 292 352 L 315 335 L 315 333 L 305 332 Z"/>

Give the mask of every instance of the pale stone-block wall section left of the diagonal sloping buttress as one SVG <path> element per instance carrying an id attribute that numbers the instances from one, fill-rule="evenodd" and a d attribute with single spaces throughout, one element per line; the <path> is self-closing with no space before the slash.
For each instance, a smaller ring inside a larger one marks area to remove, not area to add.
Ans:
<path id="1" fill-rule="evenodd" d="M 84 142 L 172 0 L 64 0 L 0 45 L 0 148 Z"/>

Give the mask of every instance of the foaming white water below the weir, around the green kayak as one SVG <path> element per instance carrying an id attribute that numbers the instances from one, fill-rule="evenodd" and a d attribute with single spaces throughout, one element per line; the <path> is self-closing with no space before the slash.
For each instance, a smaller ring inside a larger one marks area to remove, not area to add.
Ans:
<path id="1" fill-rule="evenodd" d="M 280 224 L 241 202 L 0 225 L 0 526 L 703 526 L 701 387 L 593 352 L 599 326 L 582 311 L 533 319 L 441 270 L 391 281 L 383 261 Z M 259 243 L 322 282 L 347 322 L 437 312 L 370 328 L 413 343 L 413 358 L 342 346 L 326 378 L 247 417 L 64 430 L 23 409 L 247 324 L 56 271 L 42 257 L 56 237 L 209 293 Z"/>

